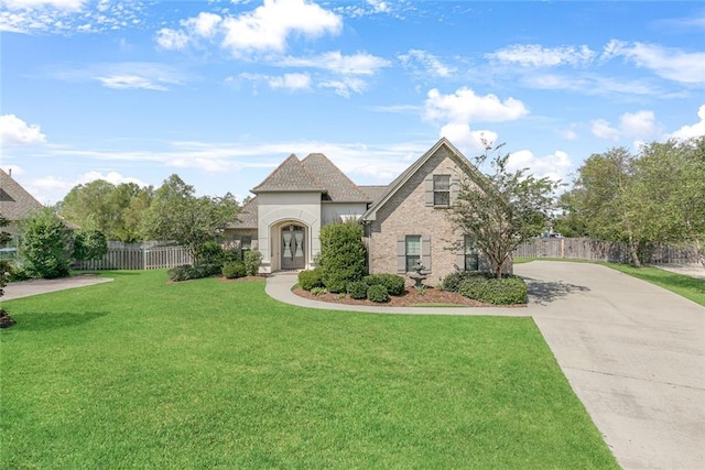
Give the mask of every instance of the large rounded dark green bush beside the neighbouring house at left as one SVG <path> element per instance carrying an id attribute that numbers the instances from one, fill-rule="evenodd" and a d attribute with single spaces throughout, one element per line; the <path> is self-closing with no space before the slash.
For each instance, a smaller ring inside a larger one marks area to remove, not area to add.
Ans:
<path id="1" fill-rule="evenodd" d="M 51 208 L 40 209 L 22 221 L 20 259 L 31 277 L 64 277 L 72 259 L 72 234 Z"/>

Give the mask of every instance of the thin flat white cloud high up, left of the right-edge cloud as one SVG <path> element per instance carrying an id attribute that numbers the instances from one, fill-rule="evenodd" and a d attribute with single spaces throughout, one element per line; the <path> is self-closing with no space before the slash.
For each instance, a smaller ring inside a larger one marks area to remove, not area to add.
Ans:
<path id="1" fill-rule="evenodd" d="M 585 65 L 593 62 L 596 53 L 588 46 L 543 47 L 539 44 L 516 44 L 485 57 L 502 64 L 519 64 L 524 67 L 556 67 L 560 65 Z"/>

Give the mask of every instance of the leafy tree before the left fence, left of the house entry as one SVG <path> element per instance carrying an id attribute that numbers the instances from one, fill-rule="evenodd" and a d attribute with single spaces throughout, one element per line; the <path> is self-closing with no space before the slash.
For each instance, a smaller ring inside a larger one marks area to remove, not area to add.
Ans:
<path id="1" fill-rule="evenodd" d="M 240 210 L 235 197 L 196 197 L 193 186 L 171 175 L 154 193 L 143 217 L 143 233 L 154 240 L 176 241 L 186 247 L 194 262 L 199 249 L 214 241 Z"/>

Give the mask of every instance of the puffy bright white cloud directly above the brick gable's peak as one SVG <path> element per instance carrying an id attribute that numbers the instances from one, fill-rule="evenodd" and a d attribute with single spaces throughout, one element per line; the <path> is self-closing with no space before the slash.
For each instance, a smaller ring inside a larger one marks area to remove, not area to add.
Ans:
<path id="1" fill-rule="evenodd" d="M 477 96 L 469 88 L 458 88 L 452 95 L 442 95 L 433 88 L 424 105 L 426 119 L 454 123 L 513 121 L 529 114 L 518 99 L 507 98 L 502 102 L 496 95 Z"/>

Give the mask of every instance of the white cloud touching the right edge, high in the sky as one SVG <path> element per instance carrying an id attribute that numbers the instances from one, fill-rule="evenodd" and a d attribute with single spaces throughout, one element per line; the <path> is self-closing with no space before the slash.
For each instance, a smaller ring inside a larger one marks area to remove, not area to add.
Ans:
<path id="1" fill-rule="evenodd" d="M 646 43 L 626 43 L 612 40 L 603 52 L 601 59 L 621 56 L 637 66 L 652 70 L 662 78 L 682 84 L 705 84 L 705 53 L 688 53 L 679 48 Z"/>

